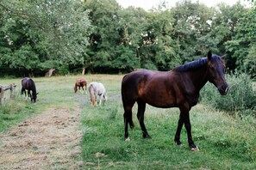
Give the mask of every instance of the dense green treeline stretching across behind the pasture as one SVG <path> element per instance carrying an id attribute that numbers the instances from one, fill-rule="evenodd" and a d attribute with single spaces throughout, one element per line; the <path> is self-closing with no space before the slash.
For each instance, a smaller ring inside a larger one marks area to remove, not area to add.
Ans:
<path id="1" fill-rule="evenodd" d="M 116 0 L 2 0 L 0 75 L 172 70 L 210 50 L 256 76 L 255 3 L 161 2 L 146 11 Z"/>

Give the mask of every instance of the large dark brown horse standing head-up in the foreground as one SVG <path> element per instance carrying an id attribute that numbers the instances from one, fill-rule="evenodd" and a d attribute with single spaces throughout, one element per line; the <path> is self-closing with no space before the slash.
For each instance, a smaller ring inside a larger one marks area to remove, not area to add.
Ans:
<path id="1" fill-rule="evenodd" d="M 171 71 L 136 70 L 124 76 L 122 104 L 125 140 L 128 140 L 128 124 L 134 128 L 132 107 L 135 102 L 138 104 L 137 118 L 144 138 L 151 138 L 144 124 L 146 103 L 160 108 L 178 107 L 180 115 L 174 142 L 181 144 L 180 132 L 184 124 L 190 149 L 197 150 L 191 135 L 190 109 L 197 105 L 199 91 L 206 82 L 213 83 L 220 94 L 228 93 L 223 57 L 209 52 L 207 58 L 180 65 Z"/>

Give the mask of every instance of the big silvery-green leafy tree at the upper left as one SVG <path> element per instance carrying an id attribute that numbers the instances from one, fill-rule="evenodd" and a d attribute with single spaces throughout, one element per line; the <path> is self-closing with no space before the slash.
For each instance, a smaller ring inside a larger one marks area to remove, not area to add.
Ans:
<path id="1" fill-rule="evenodd" d="M 27 58 L 31 63 L 26 62 L 33 68 L 41 66 L 49 69 L 53 67 L 51 63 L 81 62 L 90 27 L 88 12 L 83 9 L 83 5 L 78 0 L 1 1 L 3 13 L 0 32 L 9 42 L 7 46 L 10 49 L 9 52 L 5 51 L 9 58 L 3 59 L 14 68 L 24 67 L 25 64 L 14 63 L 16 56 L 13 53 L 17 50 L 18 55 L 29 53 L 34 56 Z M 23 31 L 15 33 L 16 28 Z"/>

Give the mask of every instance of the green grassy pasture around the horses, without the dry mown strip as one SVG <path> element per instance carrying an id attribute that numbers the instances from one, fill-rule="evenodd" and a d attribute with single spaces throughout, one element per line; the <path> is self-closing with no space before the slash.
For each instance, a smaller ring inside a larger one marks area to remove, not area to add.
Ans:
<path id="1" fill-rule="evenodd" d="M 190 151 L 186 132 L 182 131 L 182 147 L 173 143 L 179 111 L 147 106 L 145 124 L 151 140 L 142 138 L 134 106 L 131 141 L 123 140 L 123 109 L 120 94 L 122 76 L 87 75 L 88 82 L 103 82 L 108 92 L 105 106 L 92 108 L 89 94 L 74 94 L 73 83 L 78 76 L 34 78 L 39 92 L 36 104 L 17 96 L 13 103 L 0 108 L 0 131 L 22 119 L 40 114 L 49 107 L 82 108 L 81 143 L 84 159 L 81 169 L 255 169 L 256 120 L 235 119 L 225 112 L 198 104 L 190 112 L 192 135 L 201 149 Z M 1 79 L 1 84 L 21 79 Z M 5 124 L 5 125 L 3 125 Z"/>

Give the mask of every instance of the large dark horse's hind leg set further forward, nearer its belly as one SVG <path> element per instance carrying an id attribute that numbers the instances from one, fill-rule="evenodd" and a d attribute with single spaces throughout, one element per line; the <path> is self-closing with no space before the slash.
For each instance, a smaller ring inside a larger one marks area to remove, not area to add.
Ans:
<path id="1" fill-rule="evenodd" d="M 137 118 L 139 119 L 139 122 L 140 122 L 140 128 L 141 128 L 141 131 L 142 131 L 142 136 L 144 138 L 150 139 L 151 137 L 148 135 L 146 126 L 144 124 L 144 112 L 145 112 L 145 109 L 146 109 L 146 103 L 141 101 L 141 100 L 138 100 L 137 103 L 138 103 Z"/>

